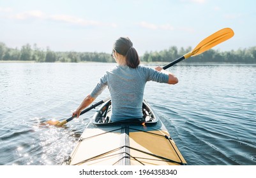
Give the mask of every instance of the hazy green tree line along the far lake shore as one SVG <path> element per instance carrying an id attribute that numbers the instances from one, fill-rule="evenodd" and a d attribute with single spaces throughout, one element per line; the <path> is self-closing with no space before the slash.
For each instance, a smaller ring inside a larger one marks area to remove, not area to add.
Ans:
<path id="1" fill-rule="evenodd" d="M 178 49 L 176 46 L 170 46 L 167 50 L 146 51 L 144 55 L 140 57 L 140 60 L 142 62 L 171 62 L 189 51 L 192 51 L 191 47 Z M 36 44 L 33 46 L 25 44 L 19 50 L 18 48 L 8 48 L 4 43 L 0 43 L 0 60 L 33 60 L 35 62 L 114 62 L 110 53 L 52 51 L 49 47 L 47 47 L 47 50 L 43 50 L 38 48 Z M 231 51 L 218 51 L 211 49 L 200 55 L 192 57 L 189 60 L 184 60 L 184 62 L 230 62 L 255 64 L 256 46 Z"/>

